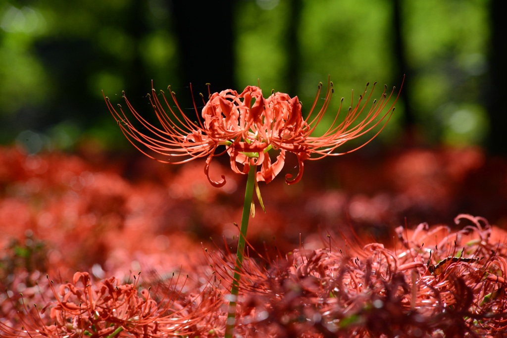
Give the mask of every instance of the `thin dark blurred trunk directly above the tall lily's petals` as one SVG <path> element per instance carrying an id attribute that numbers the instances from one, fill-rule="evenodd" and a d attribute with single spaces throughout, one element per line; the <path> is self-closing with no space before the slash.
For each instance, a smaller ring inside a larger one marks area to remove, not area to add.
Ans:
<path id="1" fill-rule="evenodd" d="M 288 94 L 296 96 L 300 81 L 301 50 L 299 45 L 299 26 L 301 24 L 301 0 L 293 0 L 289 3 L 288 27 L 286 41 L 287 56 L 287 88 Z"/>

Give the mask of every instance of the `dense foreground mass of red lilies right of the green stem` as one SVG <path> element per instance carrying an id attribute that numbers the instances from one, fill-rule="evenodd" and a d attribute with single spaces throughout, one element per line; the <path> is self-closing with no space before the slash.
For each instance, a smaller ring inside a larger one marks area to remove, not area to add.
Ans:
<path id="1" fill-rule="evenodd" d="M 256 337 L 502 336 L 507 245 L 492 241 L 498 230 L 482 217 L 461 214 L 456 222 L 471 224 L 454 232 L 420 224 L 412 236 L 400 227 L 394 250 L 380 243 L 342 246 L 330 240 L 329 248 L 295 249 L 285 259 L 246 258 L 237 332 Z M 421 243 L 431 240 L 437 244 Z M 340 246 L 343 250 L 334 249 Z M 430 250 L 480 259 L 452 260 L 431 274 Z M 222 283 L 232 283 L 231 255 L 206 254 Z"/>

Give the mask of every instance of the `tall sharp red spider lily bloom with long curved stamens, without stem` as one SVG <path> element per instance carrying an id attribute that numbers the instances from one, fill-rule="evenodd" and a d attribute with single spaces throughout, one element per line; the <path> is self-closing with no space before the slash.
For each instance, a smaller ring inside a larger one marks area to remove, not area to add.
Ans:
<path id="1" fill-rule="evenodd" d="M 375 84 L 373 87 L 375 88 Z M 141 124 L 140 128 L 134 126 L 120 105 L 118 112 L 110 100 L 107 97 L 104 98 L 122 132 L 143 154 L 159 162 L 172 164 L 206 157 L 205 174 L 213 186 L 220 187 L 226 183 L 225 176 L 222 175 L 219 181 L 211 179 L 209 165 L 213 157 L 225 152 L 230 156 L 231 168 L 234 172 L 246 174 L 250 166 L 259 166 L 260 171 L 256 179 L 266 183 L 280 173 L 286 152 L 293 153 L 298 159 L 299 172 L 295 178 L 287 174 L 285 181 L 288 184 L 298 182 L 303 175 L 305 160 L 350 153 L 375 138 L 388 122 L 394 110 L 394 103 L 399 97 L 398 94 L 394 102 L 385 110 L 394 92 L 393 88 L 393 91 L 387 95 L 386 86 L 381 98 L 373 100 L 371 108 L 367 109 L 366 106 L 373 94 L 372 89 L 367 95 L 367 85 L 355 105 L 353 105 L 352 96 L 352 106 L 342 122 L 338 121 L 338 116 L 343 98 L 328 130 L 320 136 L 312 136 L 328 110 L 333 95 L 333 83 L 329 82 L 322 107 L 317 111 L 316 106 L 321 89 L 322 84 L 319 84 L 317 95 L 306 119 L 303 119 L 301 102 L 297 96 L 291 98 L 287 94 L 276 92 L 264 98 L 259 87 L 248 86 L 241 94 L 231 89 L 210 94 L 208 102 L 202 109 L 202 122 L 193 122 L 183 114 L 173 92 L 170 92 L 170 95 L 175 109 L 171 107 L 164 92 L 161 91 L 161 98 L 169 109 L 167 112 L 152 84 L 150 102 L 161 127 L 153 126 L 139 115 L 123 96 L 130 112 Z M 176 114 L 175 110 L 179 114 Z M 194 110 L 199 120 L 195 102 Z M 367 110 L 366 116 L 361 120 L 359 116 L 365 110 Z M 336 152 L 339 146 L 365 135 L 379 125 L 380 130 L 367 142 L 343 153 Z M 225 146 L 226 151 L 218 151 L 219 146 Z M 278 152 L 274 162 L 268 154 L 271 149 Z M 242 167 L 238 168 L 237 163 L 240 163 Z"/>

